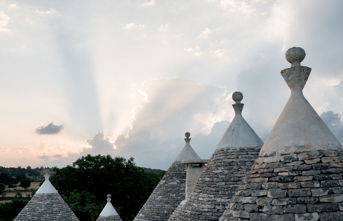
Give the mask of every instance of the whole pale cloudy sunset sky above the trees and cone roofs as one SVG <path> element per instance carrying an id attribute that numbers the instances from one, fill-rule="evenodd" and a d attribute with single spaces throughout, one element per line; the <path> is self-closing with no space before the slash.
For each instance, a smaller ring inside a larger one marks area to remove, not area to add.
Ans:
<path id="1" fill-rule="evenodd" d="M 0 165 L 64 167 L 86 154 L 168 169 L 210 159 L 243 93 L 264 141 L 301 47 L 304 95 L 343 143 L 341 0 L 2 0 Z"/>

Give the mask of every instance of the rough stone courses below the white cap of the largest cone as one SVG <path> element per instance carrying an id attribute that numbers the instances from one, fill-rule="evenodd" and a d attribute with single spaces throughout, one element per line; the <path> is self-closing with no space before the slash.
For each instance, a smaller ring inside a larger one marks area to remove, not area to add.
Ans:
<path id="1" fill-rule="evenodd" d="M 343 220 L 343 153 L 260 157 L 219 221 Z"/>

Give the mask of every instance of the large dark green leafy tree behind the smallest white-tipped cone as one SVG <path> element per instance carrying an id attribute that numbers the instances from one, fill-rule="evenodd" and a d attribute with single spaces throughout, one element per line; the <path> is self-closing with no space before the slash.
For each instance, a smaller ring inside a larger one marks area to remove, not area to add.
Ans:
<path id="1" fill-rule="evenodd" d="M 125 221 L 136 216 L 162 178 L 145 173 L 143 168 L 136 166 L 133 158 L 127 160 L 110 155 L 87 155 L 72 165 L 53 170 L 56 174 L 50 181 L 61 195 L 70 197 L 84 191 L 94 195 L 95 201 L 106 202 L 106 195 L 111 194 L 111 203 Z"/>

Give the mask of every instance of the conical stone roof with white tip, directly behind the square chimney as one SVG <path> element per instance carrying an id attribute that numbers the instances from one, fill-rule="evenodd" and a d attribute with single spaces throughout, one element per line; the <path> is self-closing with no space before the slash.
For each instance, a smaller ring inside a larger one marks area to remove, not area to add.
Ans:
<path id="1" fill-rule="evenodd" d="M 190 133 L 185 134 L 186 145 L 157 184 L 149 199 L 134 218 L 135 221 L 167 221 L 171 213 L 185 199 L 187 164 L 182 160 L 200 160 L 190 146 Z"/>

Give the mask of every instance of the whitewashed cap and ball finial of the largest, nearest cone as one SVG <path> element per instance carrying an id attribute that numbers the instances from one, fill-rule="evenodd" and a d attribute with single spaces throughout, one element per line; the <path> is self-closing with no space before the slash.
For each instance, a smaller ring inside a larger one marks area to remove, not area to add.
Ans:
<path id="1" fill-rule="evenodd" d="M 286 53 L 292 65 L 282 70 L 281 75 L 291 96 L 261 148 L 261 157 L 314 150 L 342 151 L 340 142 L 303 95 L 311 68 L 300 66 L 299 59 L 292 58 L 292 54 L 305 58 L 305 51 L 300 49 L 294 47 Z"/>

